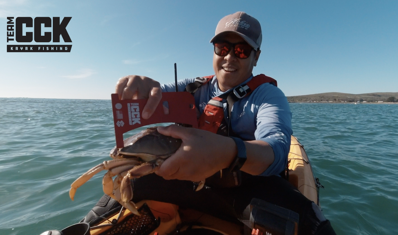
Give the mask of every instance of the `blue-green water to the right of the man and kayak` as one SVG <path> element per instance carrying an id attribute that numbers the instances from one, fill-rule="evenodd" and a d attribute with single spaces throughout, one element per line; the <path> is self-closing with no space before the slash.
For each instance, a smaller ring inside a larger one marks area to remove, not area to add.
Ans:
<path id="1" fill-rule="evenodd" d="M 291 104 L 337 234 L 395 234 L 398 105 Z"/>

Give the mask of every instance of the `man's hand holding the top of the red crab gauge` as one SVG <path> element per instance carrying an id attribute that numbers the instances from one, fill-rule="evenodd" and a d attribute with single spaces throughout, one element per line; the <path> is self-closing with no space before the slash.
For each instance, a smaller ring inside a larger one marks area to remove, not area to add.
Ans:
<path id="1" fill-rule="evenodd" d="M 119 99 L 148 99 L 148 103 L 142 110 L 142 118 L 144 119 L 152 116 L 160 99 L 162 99 L 159 82 L 137 75 L 120 78 L 116 83 L 116 93 L 119 94 Z"/>

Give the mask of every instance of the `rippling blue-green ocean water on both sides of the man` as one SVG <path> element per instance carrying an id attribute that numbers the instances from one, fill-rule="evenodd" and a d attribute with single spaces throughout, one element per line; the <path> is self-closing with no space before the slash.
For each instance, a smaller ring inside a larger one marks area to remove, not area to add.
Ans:
<path id="1" fill-rule="evenodd" d="M 291 103 L 291 110 L 336 233 L 398 234 L 398 105 Z M 1 235 L 39 235 L 87 214 L 103 195 L 103 174 L 74 201 L 68 191 L 110 159 L 112 120 L 110 100 L 0 98 Z"/>

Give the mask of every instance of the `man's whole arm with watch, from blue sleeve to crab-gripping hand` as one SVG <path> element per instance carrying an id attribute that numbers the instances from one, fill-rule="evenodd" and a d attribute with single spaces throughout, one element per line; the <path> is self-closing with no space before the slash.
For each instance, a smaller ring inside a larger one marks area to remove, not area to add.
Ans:
<path id="1" fill-rule="evenodd" d="M 285 149 L 290 146 L 292 132 L 291 113 L 285 95 L 277 90 L 281 95 L 266 97 L 267 103 L 259 107 L 256 140 L 244 141 L 247 160 L 241 170 L 246 173 L 277 175 L 286 167 L 289 150 Z M 156 172 L 165 179 L 200 181 L 228 168 L 238 153 L 234 140 L 226 136 L 176 125 L 158 130 L 183 141 L 179 150 Z"/>

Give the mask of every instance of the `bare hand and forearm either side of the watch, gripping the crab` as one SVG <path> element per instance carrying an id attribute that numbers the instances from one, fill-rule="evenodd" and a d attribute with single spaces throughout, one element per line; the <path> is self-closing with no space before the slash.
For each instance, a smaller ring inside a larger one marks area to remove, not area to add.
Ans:
<path id="1" fill-rule="evenodd" d="M 228 168 L 238 153 L 232 138 L 177 125 L 158 127 L 158 132 L 182 140 L 181 147 L 155 172 L 164 179 L 201 181 Z M 263 173 L 274 161 L 272 147 L 262 140 L 244 141 L 247 160 L 240 170 Z"/>

